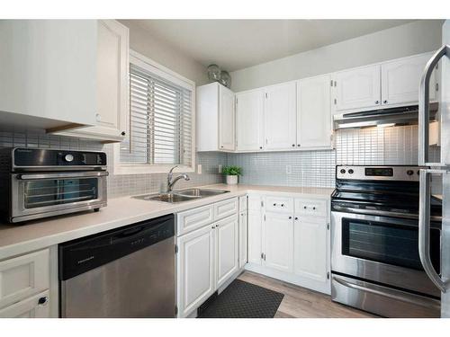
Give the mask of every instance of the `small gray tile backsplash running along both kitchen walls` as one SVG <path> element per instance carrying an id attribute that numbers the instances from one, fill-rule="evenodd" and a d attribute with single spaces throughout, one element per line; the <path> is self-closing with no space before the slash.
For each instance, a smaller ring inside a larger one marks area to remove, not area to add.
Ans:
<path id="1" fill-rule="evenodd" d="M 0 129 L 0 146 L 103 150 L 112 157 L 112 145 L 47 135 L 43 130 Z M 431 155 L 433 161 L 438 161 L 439 147 L 433 146 Z M 180 181 L 178 187 L 222 182 L 218 165 L 236 164 L 243 168 L 242 183 L 332 188 L 335 185 L 336 164 L 417 164 L 418 127 L 338 130 L 334 150 L 253 154 L 209 152 L 198 153 L 196 162 L 202 164 L 202 174 L 190 173 L 191 181 Z M 112 167 L 109 171 L 112 173 Z M 109 198 L 117 198 L 156 192 L 165 183 L 166 174 L 111 174 L 108 177 L 108 194 Z"/>

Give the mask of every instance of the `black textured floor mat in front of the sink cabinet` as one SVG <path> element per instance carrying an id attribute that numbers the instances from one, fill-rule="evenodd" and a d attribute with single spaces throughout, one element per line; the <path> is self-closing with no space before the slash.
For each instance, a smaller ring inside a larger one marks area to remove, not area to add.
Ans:
<path id="1" fill-rule="evenodd" d="M 199 318 L 273 318 L 284 294 L 235 279 Z"/>

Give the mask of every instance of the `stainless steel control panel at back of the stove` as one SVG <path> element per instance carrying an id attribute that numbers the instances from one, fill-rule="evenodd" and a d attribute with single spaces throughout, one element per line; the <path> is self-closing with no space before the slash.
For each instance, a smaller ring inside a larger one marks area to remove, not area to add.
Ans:
<path id="1" fill-rule="evenodd" d="M 336 178 L 346 180 L 385 180 L 419 182 L 419 166 L 338 165 Z"/>

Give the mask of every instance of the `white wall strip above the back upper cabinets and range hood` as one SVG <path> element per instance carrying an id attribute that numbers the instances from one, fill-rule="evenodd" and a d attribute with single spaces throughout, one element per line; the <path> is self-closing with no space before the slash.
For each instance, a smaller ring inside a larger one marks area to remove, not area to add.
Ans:
<path id="1" fill-rule="evenodd" d="M 410 22 L 233 71 L 231 89 L 239 92 L 431 51 L 441 44 L 442 23 L 442 20 Z"/>

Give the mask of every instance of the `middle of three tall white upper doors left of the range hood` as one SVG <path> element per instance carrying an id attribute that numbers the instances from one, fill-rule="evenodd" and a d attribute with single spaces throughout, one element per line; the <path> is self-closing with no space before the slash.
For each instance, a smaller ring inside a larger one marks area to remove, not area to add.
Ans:
<path id="1" fill-rule="evenodd" d="M 296 90 L 295 83 L 266 88 L 264 105 L 265 148 L 283 150 L 296 144 Z"/>

